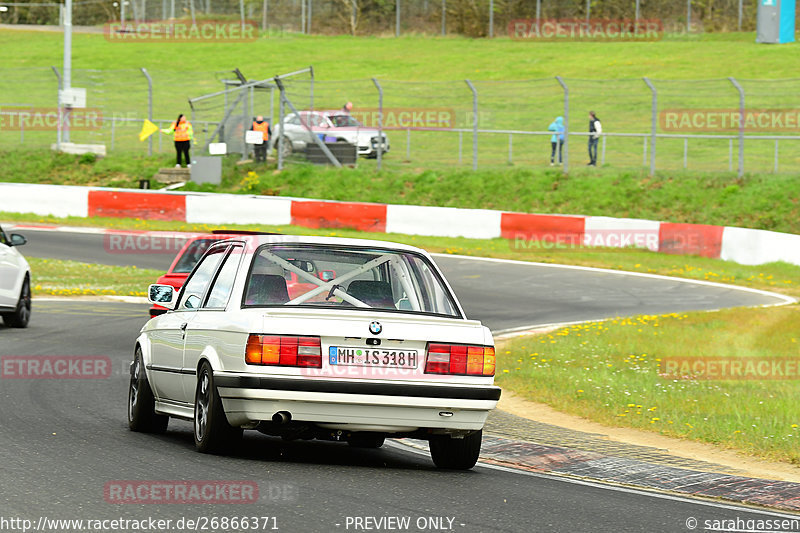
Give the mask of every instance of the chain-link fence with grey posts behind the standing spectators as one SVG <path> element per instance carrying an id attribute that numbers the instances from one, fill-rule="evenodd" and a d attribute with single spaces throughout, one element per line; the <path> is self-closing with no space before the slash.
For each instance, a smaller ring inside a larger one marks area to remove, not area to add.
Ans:
<path id="1" fill-rule="evenodd" d="M 380 163 L 390 168 L 546 166 L 556 134 L 548 127 L 562 116 L 563 164 L 574 169 L 589 160 L 590 110 L 603 128 L 601 165 L 741 173 L 788 171 L 800 163 L 800 79 L 330 81 L 303 72 L 283 80 L 295 108 L 339 110 L 351 102 L 364 128 L 388 137 Z M 269 117 L 273 131 L 281 117 L 279 91 L 268 76 L 251 73 L 243 82 L 232 71 L 75 69 L 72 77 L 73 86 L 87 89 L 86 112 L 99 118 L 75 124 L 69 140 L 112 153 L 171 151 L 169 136 L 138 140 L 151 97 L 157 125 L 167 127 L 178 113 L 192 118 L 201 150 L 223 140 L 229 152 L 246 154 L 243 133 L 252 117 Z M 0 69 L 4 148 L 56 142 L 58 80 L 56 68 Z M 242 90 L 242 83 L 250 85 Z M 213 96 L 197 99 L 203 95 Z M 285 108 L 283 116 L 290 113 Z"/>

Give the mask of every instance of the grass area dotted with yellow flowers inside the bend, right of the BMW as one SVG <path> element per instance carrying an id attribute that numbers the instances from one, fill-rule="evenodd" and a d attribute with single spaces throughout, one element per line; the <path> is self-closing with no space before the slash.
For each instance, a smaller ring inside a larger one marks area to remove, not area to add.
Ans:
<path id="1" fill-rule="evenodd" d="M 797 378 L 662 377 L 667 358 L 800 359 L 795 306 L 581 324 L 498 349 L 497 383 L 612 425 L 800 465 Z"/>

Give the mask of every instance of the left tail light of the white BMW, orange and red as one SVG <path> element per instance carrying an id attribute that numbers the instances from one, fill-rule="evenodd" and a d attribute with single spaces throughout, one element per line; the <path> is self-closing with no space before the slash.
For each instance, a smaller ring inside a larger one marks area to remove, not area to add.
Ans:
<path id="1" fill-rule="evenodd" d="M 322 346 L 319 337 L 251 334 L 244 360 L 249 365 L 322 368 Z"/>

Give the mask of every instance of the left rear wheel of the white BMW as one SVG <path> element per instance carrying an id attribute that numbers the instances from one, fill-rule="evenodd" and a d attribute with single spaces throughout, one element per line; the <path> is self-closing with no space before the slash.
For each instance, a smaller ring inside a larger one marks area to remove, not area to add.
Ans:
<path id="1" fill-rule="evenodd" d="M 197 372 L 194 393 L 194 446 L 201 453 L 222 453 L 242 438 L 242 428 L 228 424 L 222 400 L 214 385 L 211 365 L 204 361 Z"/>

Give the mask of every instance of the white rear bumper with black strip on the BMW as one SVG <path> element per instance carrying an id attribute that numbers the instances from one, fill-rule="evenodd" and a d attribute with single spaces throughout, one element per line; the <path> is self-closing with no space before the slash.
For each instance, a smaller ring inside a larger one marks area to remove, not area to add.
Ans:
<path id="1" fill-rule="evenodd" d="M 228 421 L 245 425 L 281 411 L 331 429 L 404 433 L 478 430 L 499 387 L 287 379 L 215 374 Z"/>

